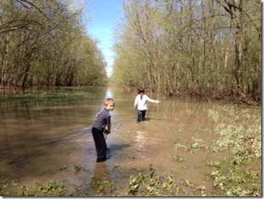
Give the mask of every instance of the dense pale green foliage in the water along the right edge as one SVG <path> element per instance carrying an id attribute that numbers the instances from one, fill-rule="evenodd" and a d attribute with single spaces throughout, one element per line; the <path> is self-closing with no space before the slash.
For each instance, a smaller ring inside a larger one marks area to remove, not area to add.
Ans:
<path id="1" fill-rule="evenodd" d="M 228 112 L 225 112 L 226 109 Z M 237 107 L 225 107 L 223 110 L 229 116 L 221 117 L 222 121 L 215 128 L 220 138 L 212 149 L 228 151 L 230 158 L 221 164 L 207 163 L 213 168 L 211 178 L 214 188 L 224 191 L 227 196 L 260 196 L 261 118 L 257 117 L 254 109 L 252 112 Z M 240 121 L 248 122 L 242 124 Z M 252 164 L 256 169 L 250 169 Z"/>

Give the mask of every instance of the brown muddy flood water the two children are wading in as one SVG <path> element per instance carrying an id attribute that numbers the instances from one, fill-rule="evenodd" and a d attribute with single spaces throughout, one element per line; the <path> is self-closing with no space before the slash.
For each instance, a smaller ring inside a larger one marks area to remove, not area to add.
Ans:
<path id="1" fill-rule="evenodd" d="M 211 130 L 217 124 L 208 110 L 228 104 L 146 93 L 160 103 L 148 103 L 146 121 L 136 123 L 135 91 L 121 87 L 80 90 L 87 95 L 1 101 L 0 180 L 19 183 L 10 187 L 10 193 L 17 193 L 22 185 L 30 188 L 35 182 L 61 180 L 69 196 L 76 191 L 74 186 L 89 190 L 96 177 L 112 180 L 120 196 L 126 196 L 129 176 L 139 170 L 146 173 L 150 164 L 160 176 L 174 172 L 177 181 L 212 186 L 210 169 L 204 163 L 224 156 L 206 149 L 178 151 L 175 144 L 189 146 L 199 139 L 212 145 L 217 135 Z M 116 102 L 111 113 L 112 133 L 107 137 L 109 159 L 96 163 L 91 125 L 107 97 Z M 184 162 L 175 162 L 175 156 L 184 157 Z M 76 171 L 76 165 L 82 169 Z"/>

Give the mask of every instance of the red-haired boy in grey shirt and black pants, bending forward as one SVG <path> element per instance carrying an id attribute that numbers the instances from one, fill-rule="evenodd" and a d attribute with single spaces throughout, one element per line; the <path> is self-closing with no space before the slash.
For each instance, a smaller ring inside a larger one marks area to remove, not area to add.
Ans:
<path id="1" fill-rule="evenodd" d="M 94 143 L 96 145 L 97 163 L 107 160 L 107 143 L 104 138 L 104 129 L 107 127 L 107 134 L 111 134 L 111 114 L 115 107 L 115 101 L 107 98 L 104 101 L 104 109 L 97 114 L 97 119 L 91 128 Z"/>

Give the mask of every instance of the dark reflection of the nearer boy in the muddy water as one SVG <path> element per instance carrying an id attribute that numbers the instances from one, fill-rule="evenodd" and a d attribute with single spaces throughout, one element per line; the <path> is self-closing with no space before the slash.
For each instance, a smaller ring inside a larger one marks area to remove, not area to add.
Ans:
<path id="1" fill-rule="evenodd" d="M 96 164 L 94 177 L 91 178 L 91 191 L 94 196 L 111 196 L 111 180 L 105 162 Z"/>

